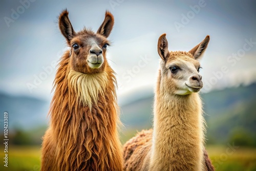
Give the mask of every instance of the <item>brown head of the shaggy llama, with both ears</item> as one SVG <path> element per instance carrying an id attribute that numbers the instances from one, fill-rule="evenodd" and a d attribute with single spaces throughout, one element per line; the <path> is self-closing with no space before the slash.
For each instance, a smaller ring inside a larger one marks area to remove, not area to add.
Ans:
<path id="1" fill-rule="evenodd" d="M 94 74 L 104 71 L 106 66 L 106 48 L 110 45 L 108 36 L 113 25 L 113 15 L 106 11 L 105 19 L 98 31 L 83 29 L 75 32 L 68 17 L 67 10 L 59 15 L 59 29 L 67 39 L 70 50 L 70 67 L 80 73 Z"/>

